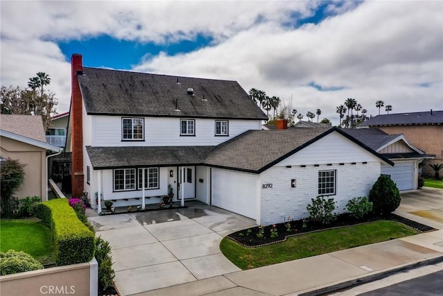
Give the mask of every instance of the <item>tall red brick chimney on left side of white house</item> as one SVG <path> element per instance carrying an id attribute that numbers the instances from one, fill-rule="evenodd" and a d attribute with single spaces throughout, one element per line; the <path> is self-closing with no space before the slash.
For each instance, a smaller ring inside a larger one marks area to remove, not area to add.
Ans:
<path id="1" fill-rule="evenodd" d="M 84 189 L 82 94 L 77 76 L 83 73 L 82 55 L 71 57 L 71 116 L 72 116 L 72 196 L 80 198 Z"/>

